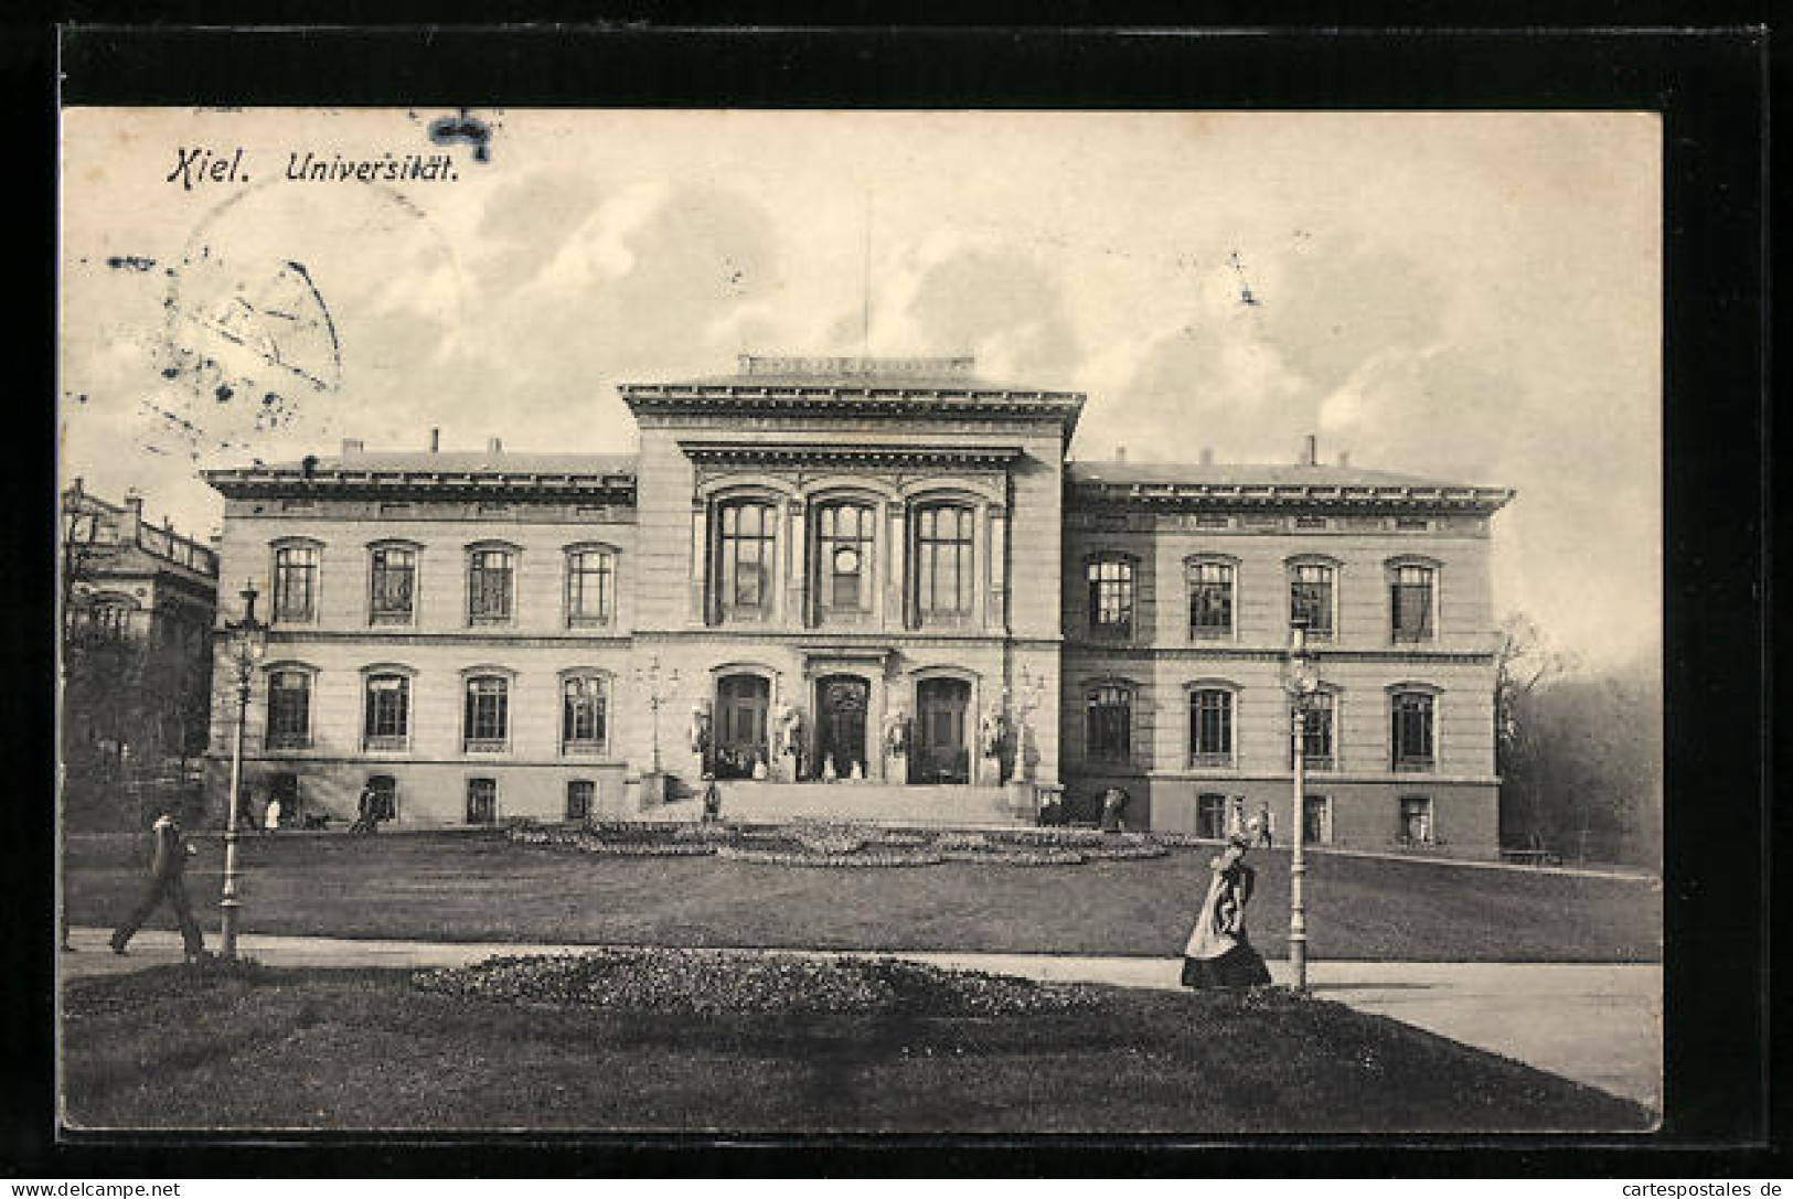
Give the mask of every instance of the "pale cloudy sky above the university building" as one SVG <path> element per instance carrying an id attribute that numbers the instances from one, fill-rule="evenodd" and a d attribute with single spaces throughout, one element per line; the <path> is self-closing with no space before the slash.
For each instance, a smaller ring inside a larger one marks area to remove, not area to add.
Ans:
<path id="1" fill-rule="evenodd" d="M 1316 432 L 1517 487 L 1497 608 L 1590 663 L 1660 640 L 1650 115 L 500 111 L 486 161 L 441 115 L 66 111 L 63 475 L 203 536 L 204 468 L 432 427 L 626 452 L 619 382 L 970 353 L 1088 391 L 1076 457 Z M 169 181 L 183 151 L 235 181 Z M 441 152 L 452 181 L 287 179 Z"/>

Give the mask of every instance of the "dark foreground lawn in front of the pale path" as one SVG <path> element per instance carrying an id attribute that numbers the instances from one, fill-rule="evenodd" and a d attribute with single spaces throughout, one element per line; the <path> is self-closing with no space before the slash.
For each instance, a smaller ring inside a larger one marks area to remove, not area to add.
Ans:
<path id="1" fill-rule="evenodd" d="M 396 839 L 394 839 L 396 841 Z M 1078 988 L 1074 1011 L 515 1005 L 407 971 L 79 979 L 74 1127 L 723 1133 L 1646 1129 L 1624 1100 L 1286 991 Z"/>

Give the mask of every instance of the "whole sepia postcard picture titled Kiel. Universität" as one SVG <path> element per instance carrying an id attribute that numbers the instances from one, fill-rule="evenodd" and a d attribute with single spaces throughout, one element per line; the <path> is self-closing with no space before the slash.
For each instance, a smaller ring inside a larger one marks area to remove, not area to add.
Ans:
<path id="1" fill-rule="evenodd" d="M 59 122 L 61 1127 L 1660 1127 L 1659 115 Z"/>

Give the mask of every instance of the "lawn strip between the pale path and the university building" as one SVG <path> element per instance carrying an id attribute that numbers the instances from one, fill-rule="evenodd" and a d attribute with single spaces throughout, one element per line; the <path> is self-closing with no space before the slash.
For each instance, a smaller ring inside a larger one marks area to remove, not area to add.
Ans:
<path id="1" fill-rule="evenodd" d="M 1121 953 L 1182 952 L 1212 850 L 1083 866 L 793 869 L 601 858 L 498 835 L 285 835 L 244 842 L 244 928 L 267 934 L 674 946 Z M 1253 853 L 1248 912 L 1284 952 L 1286 853 Z M 221 846 L 188 887 L 217 919 Z M 70 918 L 111 925 L 142 887 L 124 837 L 75 839 Z M 1311 853 L 1311 952 L 1381 961 L 1660 961 L 1651 880 Z M 160 925 L 172 927 L 167 914 Z"/>

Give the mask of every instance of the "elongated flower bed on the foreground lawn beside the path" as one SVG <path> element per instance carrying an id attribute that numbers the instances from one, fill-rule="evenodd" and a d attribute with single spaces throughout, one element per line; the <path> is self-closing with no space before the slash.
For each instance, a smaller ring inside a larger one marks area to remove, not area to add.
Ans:
<path id="1" fill-rule="evenodd" d="M 606 948 L 590 953 L 489 957 L 420 970 L 412 986 L 500 1004 L 746 1013 L 896 1013 L 1020 1016 L 1088 1007 L 1085 988 L 940 970 L 889 957 L 805 957 L 728 950 Z"/>

